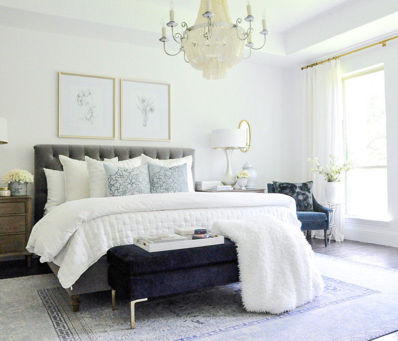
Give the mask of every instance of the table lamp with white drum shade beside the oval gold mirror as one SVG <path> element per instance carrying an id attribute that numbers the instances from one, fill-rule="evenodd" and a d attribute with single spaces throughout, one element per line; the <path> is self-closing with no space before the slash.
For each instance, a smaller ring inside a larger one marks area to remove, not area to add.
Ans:
<path id="1" fill-rule="evenodd" d="M 216 129 L 211 132 L 211 148 L 222 149 L 227 158 L 227 172 L 222 179 L 224 185 L 234 185 L 231 156 L 234 149 L 246 148 L 246 132 L 243 129 Z"/>

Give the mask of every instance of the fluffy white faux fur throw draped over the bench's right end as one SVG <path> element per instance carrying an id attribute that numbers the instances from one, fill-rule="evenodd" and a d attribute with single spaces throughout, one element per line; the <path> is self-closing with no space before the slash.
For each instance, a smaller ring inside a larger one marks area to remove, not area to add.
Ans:
<path id="1" fill-rule="evenodd" d="M 299 228 L 263 214 L 219 220 L 211 230 L 237 246 L 247 311 L 280 314 L 312 302 L 323 291 L 313 251 Z"/>

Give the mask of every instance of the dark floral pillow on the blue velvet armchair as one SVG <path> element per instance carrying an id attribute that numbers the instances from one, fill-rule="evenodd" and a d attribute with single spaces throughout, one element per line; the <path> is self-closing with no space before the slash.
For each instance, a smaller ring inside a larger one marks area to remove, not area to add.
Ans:
<path id="1" fill-rule="evenodd" d="M 313 211 L 312 181 L 308 182 L 277 182 L 273 181 L 275 192 L 286 194 L 296 200 L 296 208 L 299 212 Z"/>

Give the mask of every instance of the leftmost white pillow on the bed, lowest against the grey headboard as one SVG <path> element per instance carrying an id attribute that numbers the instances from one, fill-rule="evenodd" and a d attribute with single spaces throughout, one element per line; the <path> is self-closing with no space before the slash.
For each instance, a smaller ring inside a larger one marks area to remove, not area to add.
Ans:
<path id="1" fill-rule="evenodd" d="M 48 213 L 50 208 L 65 202 L 65 175 L 63 171 L 55 171 L 44 168 L 47 178 L 47 202 L 44 212 Z"/>

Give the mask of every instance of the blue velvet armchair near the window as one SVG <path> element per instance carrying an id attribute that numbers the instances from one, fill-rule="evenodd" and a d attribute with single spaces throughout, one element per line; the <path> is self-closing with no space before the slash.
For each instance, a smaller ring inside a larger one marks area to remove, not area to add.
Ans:
<path id="1" fill-rule="evenodd" d="M 275 185 L 268 183 L 268 193 L 275 193 Z M 332 209 L 323 207 L 312 194 L 314 210 L 311 212 L 297 212 L 297 218 L 301 222 L 301 231 L 324 230 L 325 247 L 327 247 L 327 231 L 329 230 L 330 213 Z"/>

